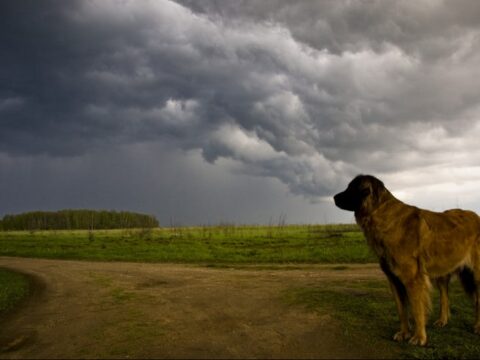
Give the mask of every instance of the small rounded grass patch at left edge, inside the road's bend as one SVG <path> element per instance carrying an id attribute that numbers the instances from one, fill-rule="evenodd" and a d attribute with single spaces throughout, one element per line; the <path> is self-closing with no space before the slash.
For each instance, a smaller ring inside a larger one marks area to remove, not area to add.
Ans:
<path id="1" fill-rule="evenodd" d="M 0 316 L 12 310 L 29 293 L 28 279 L 19 273 L 0 268 Z"/>

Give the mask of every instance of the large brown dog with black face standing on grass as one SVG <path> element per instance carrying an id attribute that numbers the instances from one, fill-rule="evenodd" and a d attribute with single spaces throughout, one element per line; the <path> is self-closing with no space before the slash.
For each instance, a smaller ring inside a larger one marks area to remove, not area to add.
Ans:
<path id="1" fill-rule="evenodd" d="M 368 245 L 377 254 L 392 289 L 400 317 L 397 341 L 425 345 L 425 323 L 430 308 L 430 279 L 440 289 L 440 319 L 448 321 L 447 286 L 458 273 L 475 301 L 475 332 L 480 333 L 480 218 L 460 209 L 433 212 L 407 205 L 395 198 L 383 183 L 359 175 L 345 191 L 334 196 L 335 204 L 354 211 Z M 415 321 L 410 337 L 408 310 Z"/>

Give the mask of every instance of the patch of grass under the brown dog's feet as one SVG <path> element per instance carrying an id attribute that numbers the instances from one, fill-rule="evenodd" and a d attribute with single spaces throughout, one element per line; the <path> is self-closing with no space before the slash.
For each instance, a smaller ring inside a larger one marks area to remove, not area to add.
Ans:
<path id="1" fill-rule="evenodd" d="M 396 343 L 393 334 L 399 321 L 387 281 L 355 280 L 323 283 L 320 287 L 293 288 L 284 293 L 292 306 L 328 312 L 340 321 L 343 335 L 373 354 L 417 359 L 480 358 L 480 337 L 473 333 L 473 303 L 455 279 L 451 284 L 451 319 L 444 328 L 433 326 L 438 318 L 438 291 L 433 291 L 433 309 L 427 326 L 426 347 Z"/>

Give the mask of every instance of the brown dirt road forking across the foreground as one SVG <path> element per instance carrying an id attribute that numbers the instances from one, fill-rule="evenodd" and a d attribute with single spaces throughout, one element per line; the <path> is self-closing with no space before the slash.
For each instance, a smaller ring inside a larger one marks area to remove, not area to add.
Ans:
<path id="1" fill-rule="evenodd" d="M 0 358 L 362 358 L 328 314 L 282 291 L 378 278 L 377 265 L 211 269 L 0 257 L 33 297 L 0 324 Z"/>

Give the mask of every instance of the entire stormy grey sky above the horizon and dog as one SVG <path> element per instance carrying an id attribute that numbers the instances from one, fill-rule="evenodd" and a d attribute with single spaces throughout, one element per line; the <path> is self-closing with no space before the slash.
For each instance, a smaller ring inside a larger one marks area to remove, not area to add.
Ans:
<path id="1" fill-rule="evenodd" d="M 372 174 L 480 211 L 480 2 L 4 0 L 0 216 L 353 222 Z"/>

